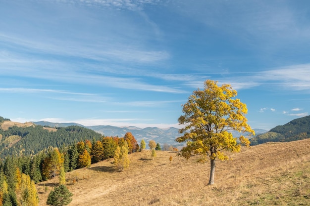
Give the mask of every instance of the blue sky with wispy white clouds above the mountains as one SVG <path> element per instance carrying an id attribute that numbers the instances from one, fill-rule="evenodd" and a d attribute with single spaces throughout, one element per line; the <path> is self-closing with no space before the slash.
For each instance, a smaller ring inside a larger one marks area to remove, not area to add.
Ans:
<path id="1" fill-rule="evenodd" d="M 0 0 L 0 116 L 176 126 L 205 80 L 252 128 L 310 113 L 308 0 Z"/>

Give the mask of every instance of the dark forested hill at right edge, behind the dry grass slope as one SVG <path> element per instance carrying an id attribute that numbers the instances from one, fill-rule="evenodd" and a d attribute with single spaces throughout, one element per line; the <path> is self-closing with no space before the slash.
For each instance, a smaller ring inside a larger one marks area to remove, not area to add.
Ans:
<path id="1" fill-rule="evenodd" d="M 265 142 L 290 142 L 310 138 L 310 116 L 298 118 L 291 122 L 276 126 L 268 132 L 251 139 L 251 145 Z"/>

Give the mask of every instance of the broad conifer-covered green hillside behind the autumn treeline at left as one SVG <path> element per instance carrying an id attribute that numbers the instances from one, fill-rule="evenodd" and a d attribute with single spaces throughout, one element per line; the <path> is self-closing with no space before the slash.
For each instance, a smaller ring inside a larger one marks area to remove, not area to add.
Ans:
<path id="1" fill-rule="evenodd" d="M 5 124 L 1 118 L 0 124 Z M 100 140 L 102 135 L 80 126 L 58 127 L 54 130 L 41 125 L 27 127 L 11 126 L 0 129 L 0 158 L 13 154 L 36 154 L 39 151 L 62 145 L 72 145 L 80 140 Z"/>

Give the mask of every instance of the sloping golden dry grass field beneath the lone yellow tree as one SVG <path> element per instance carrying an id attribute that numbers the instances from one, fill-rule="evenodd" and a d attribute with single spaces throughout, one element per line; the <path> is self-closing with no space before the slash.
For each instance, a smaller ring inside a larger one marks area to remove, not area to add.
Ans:
<path id="1" fill-rule="evenodd" d="M 122 172 L 108 160 L 67 173 L 69 206 L 310 206 L 310 139 L 231 154 L 233 160 L 217 162 L 212 186 L 209 164 L 156 154 L 154 160 L 148 150 L 129 155 Z M 37 184 L 40 206 L 57 181 Z"/>

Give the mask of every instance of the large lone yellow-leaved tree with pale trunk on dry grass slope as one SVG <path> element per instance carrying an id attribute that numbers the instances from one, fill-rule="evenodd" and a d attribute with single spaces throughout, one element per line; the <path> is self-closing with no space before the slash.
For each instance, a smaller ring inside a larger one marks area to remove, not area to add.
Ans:
<path id="1" fill-rule="evenodd" d="M 198 162 L 210 161 L 209 185 L 214 184 L 215 161 L 228 160 L 222 151 L 240 152 L 240 144 L 231 131 L 248 132 L 254 130 L 247 124 L 245 115 L 247 105 L 240 99 L 234 99 L 237 91 L 229 84 L 217 85 L 216 81 L 207 80 L 204 90 L 195 90 L 183 105 L 183 114 L 178 119 L 179 133 L 183 136 L 177 142 L 186 142 L 179 155 L 189 159 L 193 154 L 200 155 Z M 244 136 L 239 137 L 240 143 L 246 146 L 250 141 Z"/>

